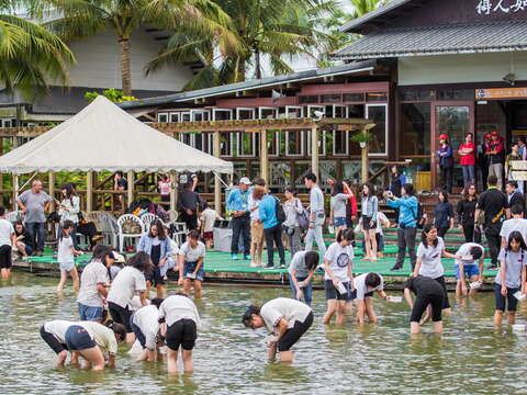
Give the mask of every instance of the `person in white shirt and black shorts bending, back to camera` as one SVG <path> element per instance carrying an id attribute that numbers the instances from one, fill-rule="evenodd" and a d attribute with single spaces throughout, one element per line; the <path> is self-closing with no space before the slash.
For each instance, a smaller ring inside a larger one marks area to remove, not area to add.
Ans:
<path id="1" fill-rule="evenodd" d="M 192 349 L 201 327 L 200 314 L 191 298 L 184 294 L 168 296 L 159 306 L 161 337 L 167 343 L 167 370 L 178 373 L 178 351 L 181 348 L 184 373 L 194 370 Z"/>

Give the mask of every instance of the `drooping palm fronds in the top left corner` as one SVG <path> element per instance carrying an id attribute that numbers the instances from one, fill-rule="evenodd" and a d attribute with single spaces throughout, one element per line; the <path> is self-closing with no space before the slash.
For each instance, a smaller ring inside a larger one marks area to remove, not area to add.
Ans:
<path id="1" fill-rule="evenodd" d="M 65 43 L 43 26 L 15 15 L 18 2 L 0 0 L 0 82 L 32 99 L 49 82 L 68 83 L 75 61 Z"/>

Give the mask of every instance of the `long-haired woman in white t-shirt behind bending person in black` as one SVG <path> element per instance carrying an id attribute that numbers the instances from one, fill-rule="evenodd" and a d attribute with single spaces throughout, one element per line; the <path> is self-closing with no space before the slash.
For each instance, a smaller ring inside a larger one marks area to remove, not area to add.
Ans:
<path id="1" fill-rule="evenodd" d="M 451 259 L 461 259 L 461 257 L 445 250 L 445 241 L 437 236 L 437 227 L 435 225 L 425 225 L 421 240 L 419 247 L 417 248 L 417 262 L 415 263 L 413 276 L 424 275 L 441 284 L 445 291 L 442 309 L 450 309 L 441 257 Z"/>

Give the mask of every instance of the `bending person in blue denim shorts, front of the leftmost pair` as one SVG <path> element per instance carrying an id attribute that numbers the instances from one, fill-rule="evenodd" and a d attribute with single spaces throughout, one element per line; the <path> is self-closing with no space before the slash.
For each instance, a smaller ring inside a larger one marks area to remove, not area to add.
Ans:
<path id="1" fill-rule="evenodd" d="M 83 368 L 93 371 L 104 370 L 108 354 L 108 368 L 115 368 L 117 342 L 126 339 L 126 328 L 112 320 L 104 325 L 93 321 L 70 323 L 65 339 L 69 351 L 80 356 L 87 362 Z"/>

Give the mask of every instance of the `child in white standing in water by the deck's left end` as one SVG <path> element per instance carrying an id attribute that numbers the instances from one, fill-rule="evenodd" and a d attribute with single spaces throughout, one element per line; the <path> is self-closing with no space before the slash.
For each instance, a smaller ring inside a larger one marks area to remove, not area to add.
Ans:
<path id="1" fill-rule="evenodd" d="M 69 219 L 66 219 L 63 223 L 60 230 L 61 234 L 58 238 L 57 260 L 60 266 L 60 281 L 57 285 L 57 292 L 63 292 L 64 284 L 66 284 L 66 280 L 68 279 L 68 273 L 74 282 L 75 292 L 79 291 L 79 273 L 75 266 L 75 257 L 81 256 L 82 251 L 75 249 L 74 238 L 71 237 L 74 228 L 75 224 Z"/>

